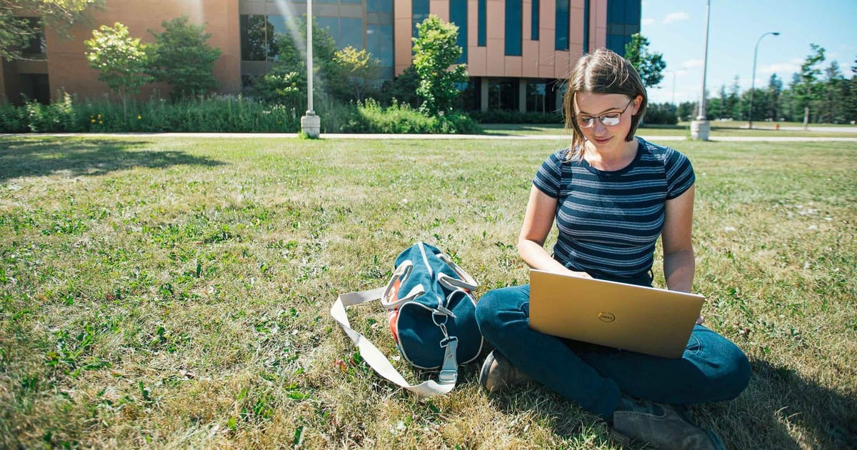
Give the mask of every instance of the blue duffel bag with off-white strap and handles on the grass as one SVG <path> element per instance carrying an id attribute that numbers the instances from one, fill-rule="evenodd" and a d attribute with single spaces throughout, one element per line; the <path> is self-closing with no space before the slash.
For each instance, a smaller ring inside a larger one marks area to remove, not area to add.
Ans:
<path id="1" fill-rule="evenodd" d="M 421 395 L 448 393 L 458 381 L 458 365 L 470 363 L 482 351 L 471 293 L 476 280 L 428 243 L 402 251 L 395 266 L 387 287 L 342 294 L 331 315 L 380 375 Z M 420 369 L 439 369 L 438 381 L 411 386 L 369 339 L 351 329 L 345 307 L 379 297 L 402 357 Z"/>

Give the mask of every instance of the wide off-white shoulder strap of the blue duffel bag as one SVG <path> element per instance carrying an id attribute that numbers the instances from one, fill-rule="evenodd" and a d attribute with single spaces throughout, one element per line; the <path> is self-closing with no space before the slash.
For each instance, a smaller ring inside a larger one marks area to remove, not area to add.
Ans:
<path id="1" fill-rule="evenodd" d="M 390 280 L 391 283 L 393 279 Z M 360 351 L 363 361 L 369 363 L 369 366 L 375 369 L 378 375 L 423 397 L 433 397 L 434 395 L 449 393 L 458 381 L 458 359 L 456 358 L 456 350 L 458 349 L 457 338 L 445 339 L 445 342 L 441 343 L 441 345 L 446 345 L 446 350 L 443 356 L 443 366 L 438 374 L 438 381 L 428 380 L 418 385 L 411 385 L 408 381 L 405 381 L 405 377 L 399 374 L 399 371 L 393 367 L 393 363 L 390 363 L 390 360 L 384 356 L 384 353 L 378 350 L 375 344 L 372 344 L 363 334 L 351 328 L 351 323 L 348 321 L 348 314 L 345 312 L 345 309 L 356 304 L 377 300 L 388 290 L 389 285 L 369 291 L 341 294 L 337 297 L 336 302 L 333 303 L 330 315 L 333 316 L 335 321 L 339 322 L 339 326 L 345 330 L 345 334 L 357 345 L 357 350 Z"/>

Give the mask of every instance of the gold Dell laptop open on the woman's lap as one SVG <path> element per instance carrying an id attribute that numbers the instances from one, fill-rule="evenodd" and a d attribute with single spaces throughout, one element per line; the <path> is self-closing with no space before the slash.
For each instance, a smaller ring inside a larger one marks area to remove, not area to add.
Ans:
<path id="1" fill-rule="evenodd" d="M 679 358 L 705 297 L 530 270 L 530 328 L 561 338 Z"/>

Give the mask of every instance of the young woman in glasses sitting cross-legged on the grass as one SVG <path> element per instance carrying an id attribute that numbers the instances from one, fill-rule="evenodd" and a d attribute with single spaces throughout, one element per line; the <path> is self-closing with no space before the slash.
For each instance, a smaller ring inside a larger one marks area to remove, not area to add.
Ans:
<path id="1" fill-rule="evenodd" d="M 530 267 L 651 285 L 661 237 L 668 289 L 691 291 L 695 177 L 684 155 L 634 136 L 646 103 L 637 70 L 623 57 L 599 49 L 579 59 L 564 105 L 572 145 L 536 172 L 518 237 Z M 554 222 L 551 255 L 544 243 Z M 717 435 L 686 420 L 683 405 L 734 399 L 750 365 L 702 317 L 683 357 L 667 359 L 533 331 L 529 302 L 529 286 L 516 286 L 477 303 L 480 330 L 494 345 L 480 375 L 488 391 L 536 381 L 603 417 L 620 441 L 722 447 Z"/>

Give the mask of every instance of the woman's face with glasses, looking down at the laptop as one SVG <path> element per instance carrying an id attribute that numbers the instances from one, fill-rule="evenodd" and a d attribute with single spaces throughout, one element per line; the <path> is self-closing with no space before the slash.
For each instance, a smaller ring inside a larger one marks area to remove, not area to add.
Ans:
<path id="1" fill-rule="evenodd" d="M 577 93 L 575 120 L 591 149 L 611 152 L 632 146 L 633 142 L 626 142 L 625 136 L 631 130 L 631 117 L 637 114 L 641 101 L 640 96 L 631 99 L 621 93 Z"/>

